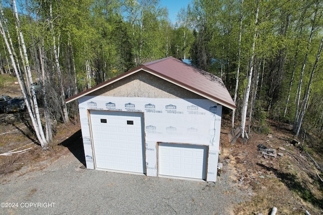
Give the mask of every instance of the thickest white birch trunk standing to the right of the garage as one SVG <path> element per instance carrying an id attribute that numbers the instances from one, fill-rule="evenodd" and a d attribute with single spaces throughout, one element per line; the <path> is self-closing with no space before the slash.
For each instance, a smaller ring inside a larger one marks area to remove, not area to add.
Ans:
<path id="1" fill-rule="evenodd" d="M 252 71 L 253 71 L 254 48 L 255 48 L 256 37 L 257 37 L 258 12 L 259 12 L 259 2 L 257 1 L 257 10 L 256 10 L 256 18 L 255 18 L 255 32 L 253 35 L 253 42 L 252 42 L 252 47 L 251 47 L 252 54 L 251 54 L 250 61 L 249 61 L 250 70 L 249 70 L 249 75 L 248 75 L 248 84 L 246 87 L 246 93 L 245 93 L 245 97 L 244 97 L 244 101 L 243 101 L 243 109 L 242 109 L 242 116 L 241 116 L 241 127 L 242 127 L 241 137 L 242 138 L 244 138 L 248 101 L 249 101 L 249 95 L 250 95 L 250 86 L 251 86 Z"/>

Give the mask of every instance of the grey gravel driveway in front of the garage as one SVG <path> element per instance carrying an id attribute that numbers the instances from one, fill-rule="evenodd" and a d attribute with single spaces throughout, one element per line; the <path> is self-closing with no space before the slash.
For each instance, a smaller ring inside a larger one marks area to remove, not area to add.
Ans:
<path id="1" fill-rule="evenodd" d="M 234 204 L 249 198 L 228 166 L 221 182 L 209 183 L 76 171 L 80 164 L 68 153 L 43 170 L 2 177 L 0 214 L 233 214 Z"/>

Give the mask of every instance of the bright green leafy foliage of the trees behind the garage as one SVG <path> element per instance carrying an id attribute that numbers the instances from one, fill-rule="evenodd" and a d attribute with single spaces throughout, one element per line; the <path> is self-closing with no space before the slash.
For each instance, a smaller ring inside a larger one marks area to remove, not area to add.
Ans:
<path id="1" fill-rule="evenodd" d="M 56 89 L 57 81 L 49 22 L 53 23 L 56 46 L 60 48 L 59 61 L 66 89 L 75 87 L 75 76 L 77 88 L 84 89 L 82 78 L 86 80 L 86 62 L 90 63 L 93 73 L 92 85 L 96 85 L 141 63 L 172 55 L 190 58 L 195 66 L 221 77 L 232 95 L 240 63 L 237 108 L 241 109 L 250 70 L 253 35 L 256 33 L 253 69 L 254 74 L 260 69 L 260 78 L 254 118 L 256 128 L 263 132 L 267 127 L 266 117 L 283 119 L 288 95 L 290 99 L 284 119 L 293 121 L 300 71 L 306 56 L 302 100 L 323 29 L 323 17 L 319 16 L 323 3 L 319 1 L 244 0 L 241 4 L 239 0 L 195 0 L 190 5 L 183 5 L 176 24 L 169 22 L 167 9 L 161 7 L 157 0 L 29 0 L 19 3 L 24 4 L 21 8 L 25 8 L 20 13 L 20 21 L 30 65 L 40 74 L 37 48 L 42 47 L 44 41 L 45 70 L 47 77 L 54 77 L 48 81 L 53 89 Z M 53 20 L 48 19 L 49 3 L 52 3 Z M 15 51 L 19 53 L 12 11 L 9 5 L 5 6 L 8 31 Z M 257 6 L 259 16 L 255 25 Z M 318 16 L 315 17 L 315 29 L 306 55 L 315 11 Z M 238 45 L 240 12 L 241 47 Z M 0 45 L 4 46 L 3 40 L 0 40 Z M 8 66 L 8 53 L 1 49 L 0 54 L 0 63 Z M 320 111 L 323 107 L 320 102 L 323 101 L 321 62 L 322 59 L 314 74 L 305 114 L 305 123 L 316 134 L 323 126 Z M 255 78 L 252 84 L 255 85 Z M 3 85 L 1 81 L 0 85 Z"/>

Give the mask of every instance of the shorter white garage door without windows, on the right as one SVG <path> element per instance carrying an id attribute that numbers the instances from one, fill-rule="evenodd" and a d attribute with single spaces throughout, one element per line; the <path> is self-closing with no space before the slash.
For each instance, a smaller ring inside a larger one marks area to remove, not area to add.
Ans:
<path id="1" fill-rule="evenodd" d="M 207 147 L 160 143 L 158 146 L 159 175 L 205 179 Z"/>

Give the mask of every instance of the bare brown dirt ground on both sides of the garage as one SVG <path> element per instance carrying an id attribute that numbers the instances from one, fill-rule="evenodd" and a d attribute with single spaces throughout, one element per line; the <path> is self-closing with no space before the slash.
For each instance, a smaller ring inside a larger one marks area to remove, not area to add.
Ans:
<path id="1" fill-rule="evenodd" d="M 0 115 L 0 175 L 39 170 L 59 158 L 58 155 L 71 152 L 84 163 L 77 122 L 58 125 L 54 141 L 49 150 L 44 151 L 35 144 L 27 118 L 26 113 Z M 289 124 L 268 123 L 271 124 L 270 134 L 251 133 L 247 141 L 238 138 L 231 144 L 227 134 L 230 116 L 223 116 L 220 163 L 234 172 L 232 184 L 251 196 L 251 201 L 235 206 L 235 214 L 270 214 L 274 206 L 277 214 L 305 214 L 306 211 L 323 214 L 322 174 L 319 175 L 304 151 L 291 144 L 294 136 Z M 257 149 L 259 144 L 275 149 L 279 155 L 262 155 Z M 11 151 L 18 153 L 4 155 Z M 319 157 L 312 156 L 323 166 Z"/>

